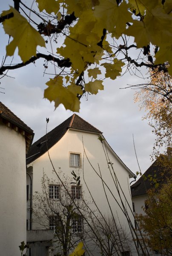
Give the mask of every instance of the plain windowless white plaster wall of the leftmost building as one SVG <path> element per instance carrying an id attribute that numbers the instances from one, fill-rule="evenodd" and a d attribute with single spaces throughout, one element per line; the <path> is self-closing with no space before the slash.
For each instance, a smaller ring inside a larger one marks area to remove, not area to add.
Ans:
<path id="1" fill-rule="evenodd" d="M 0 122 L 0 255 L 20 255 L 26 242 L 26 142 Z"/>

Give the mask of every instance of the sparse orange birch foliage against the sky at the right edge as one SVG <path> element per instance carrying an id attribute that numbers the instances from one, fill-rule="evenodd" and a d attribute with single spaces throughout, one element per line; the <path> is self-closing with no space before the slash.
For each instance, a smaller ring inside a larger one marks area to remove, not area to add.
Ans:
<path id="1" fill-rule="evenodd" d="M 135 102 L 147 111 L 144 119 L 149 120 L 152 132 L 156 135 L 154 153 L 159 154 L 163 145 L 172 143 L 172 76 L 158 68 L 149 70 L 149 84 L 141 84 L 135 93 Z"/>

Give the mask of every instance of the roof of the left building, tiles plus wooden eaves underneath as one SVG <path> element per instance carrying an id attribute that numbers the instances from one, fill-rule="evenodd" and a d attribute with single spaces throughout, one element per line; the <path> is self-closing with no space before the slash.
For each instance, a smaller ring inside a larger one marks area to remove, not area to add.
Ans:
<path id="1" fill-rule="evenodd" d="M 26 151 L 29 149 L 29 146 L 32 144 L 33 140 L 33 130 L 27 126 L 20 118 L 18 118 L 9 108 L 3 105 L 0 102 L 0 117 L 2 118 L 4 124 L 14 128 L 15 131 L 19 131 L 25 136 L 26 139 Z"/>

